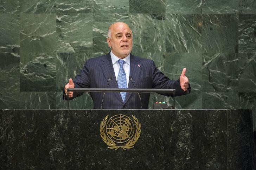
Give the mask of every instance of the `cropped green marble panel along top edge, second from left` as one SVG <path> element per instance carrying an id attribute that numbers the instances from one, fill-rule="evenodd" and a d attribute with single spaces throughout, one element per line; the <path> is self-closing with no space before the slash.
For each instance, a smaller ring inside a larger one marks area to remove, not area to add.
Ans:
<path id="1" fill-rule="evenodd" d="M 56 13 L 56 0 L 19 0 L 21 13 Z"/>

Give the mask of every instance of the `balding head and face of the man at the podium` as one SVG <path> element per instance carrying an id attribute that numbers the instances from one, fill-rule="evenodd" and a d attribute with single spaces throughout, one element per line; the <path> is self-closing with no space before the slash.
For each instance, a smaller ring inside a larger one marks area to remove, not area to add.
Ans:
<path id="1" fill-rule="evenodd" d="M 111 36 L 107 39 L 113 54 L 124 58 L 132 51 L 133 35 L 126 23 L 117 22 L 111 26 Z"/>

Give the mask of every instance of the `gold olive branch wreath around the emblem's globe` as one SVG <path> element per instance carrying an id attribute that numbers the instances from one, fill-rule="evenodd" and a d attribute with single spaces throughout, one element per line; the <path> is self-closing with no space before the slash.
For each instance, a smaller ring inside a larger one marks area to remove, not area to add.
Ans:
<path id="1" fill-rule="evenodd" d="M 126 150 L 126 149 L 133 148 L 134 147 L 133 145 L 137 142 L 137 140 L 140 137 L 140 133 L 141 133 L 141 124 L 140 124 L 139 120 L 135 116 L 132 115 L 133 120 L 135 122 L 135 126 L 136 126 L 136 133 L 135 133 L 134 137 L 131 140 L 129 140 L 125 145 L 118 146 L 118 145 L 115 144 L 114 141 L 112 141 L 110 138 L 108 138 L 107 135 L 104 132 L 105 127 L 106 127 L 106 123 L 107 123 L 107 120 L 108 120 L 108 116 L 109 115 L 107 115 L 101 121 L 101 124 L 100 124 L 100 132 L 101 132 L 101 138 L 102 138 L 103 142 L 108 145 L 109 149 L 117 150 L 118 148 L 122 148 L 123 150 Z"/>

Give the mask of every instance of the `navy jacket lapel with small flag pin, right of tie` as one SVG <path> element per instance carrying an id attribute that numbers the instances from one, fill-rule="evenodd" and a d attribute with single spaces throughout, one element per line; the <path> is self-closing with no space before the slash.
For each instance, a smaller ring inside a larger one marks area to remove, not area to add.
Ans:
<path id="1" fill-rule="evenodd" d="M 130 76 L 133 77 L 133 83 L 136 87 L 136 83 L 139 79 L 140 73 L 141 73 L 141 67 L 142 64 L 140 63 L 140 60 L 131 54 L 130 56 Z M 133 83 L 129 80 L 128 83 L 128 89 L 134 89 Z M 124 103 L 128 101 L 132 93 L 127 93 Z"/>

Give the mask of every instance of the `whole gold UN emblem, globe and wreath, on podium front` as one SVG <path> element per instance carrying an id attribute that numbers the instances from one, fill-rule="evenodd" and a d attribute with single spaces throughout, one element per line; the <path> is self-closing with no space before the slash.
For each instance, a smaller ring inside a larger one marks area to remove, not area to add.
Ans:
<path id="1" fill-rule="evenodd" d="M 140 137 L 139 120 L 133 115 L 132 120 L 126 115 L 115 115 L 109 119 L 108 116 L 101 121 L 100 125 L 102 140 L 108 145 L 108 148 L 115 150 L 133 148 Z"/>

